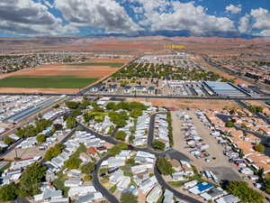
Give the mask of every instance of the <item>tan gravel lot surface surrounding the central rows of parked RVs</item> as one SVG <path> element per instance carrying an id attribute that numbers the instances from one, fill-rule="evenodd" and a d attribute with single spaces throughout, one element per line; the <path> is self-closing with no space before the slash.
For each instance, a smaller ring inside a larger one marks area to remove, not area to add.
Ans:
<path id="1" fill-rule="evenodd" d="M 196 117 L 194 110 L 186 111 L 193 117 L 193 124 L 195 125 L 196 131 L 202 137 L 203 142 L 207 143 L 210 147 L 207 152 L 211 153 L 211 157 L 216 157 L 216 160 L 211 163 L 204 161 L 204 159 L 196 159 L 192 154 L 189 153 L 191 149 L 185 148 L 186 143 L 184 141 L 183 131 L 180 130 L 182 121 L 175 115 L 176 112 L 172 113 L 173 119 L 173 135 L 174 135 L 174 148 L 179 152 L 183 152 L 187 155 L 192 163 L 198 168 L 199 171 L 209 170 L 213 171 L 219 180 L 239 180 L 238 169 L 235 165 L 229 162 L 228 158 L 223 155 L 222 147 L 217 141 L 210 135 L 211 130 L 208 129 L 203 123 Z"/>

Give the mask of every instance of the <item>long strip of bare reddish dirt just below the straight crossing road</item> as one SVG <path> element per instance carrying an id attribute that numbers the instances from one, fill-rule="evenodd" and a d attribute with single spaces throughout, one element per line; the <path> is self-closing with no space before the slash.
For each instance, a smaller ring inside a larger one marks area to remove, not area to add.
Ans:
<path id="1" fill-rule="evenodd" d="M 211 109 L 211 108 L 224 108 L 238 106 L 234 101 L 223 101 L 223 100 L 186 100 L 186 99 L 166 99 L 166 98 L 130 98 L 130 101 L 147 101 L 153 106 L 166 106 L 176 108 L 200 108 L 200 109 Z"/>

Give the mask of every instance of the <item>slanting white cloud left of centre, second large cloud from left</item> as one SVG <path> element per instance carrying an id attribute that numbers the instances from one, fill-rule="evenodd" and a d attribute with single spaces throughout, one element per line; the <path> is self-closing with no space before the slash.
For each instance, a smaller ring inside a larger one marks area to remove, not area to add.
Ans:
<path id="1" fill-rule="evenodd" d="M 55 0 L 54 5 L 74 25 L 97 27 L 105 32 L 139 30 L 125 9 L 114 0 Z"/>

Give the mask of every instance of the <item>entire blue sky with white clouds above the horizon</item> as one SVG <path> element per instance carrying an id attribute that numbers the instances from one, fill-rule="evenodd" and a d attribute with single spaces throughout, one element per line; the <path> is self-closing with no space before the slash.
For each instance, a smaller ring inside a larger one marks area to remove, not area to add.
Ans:
<path id="1" fill-rule="evenodd" d="M 270 36 L 269 0 L 1 0 L 0 37 Z"/>

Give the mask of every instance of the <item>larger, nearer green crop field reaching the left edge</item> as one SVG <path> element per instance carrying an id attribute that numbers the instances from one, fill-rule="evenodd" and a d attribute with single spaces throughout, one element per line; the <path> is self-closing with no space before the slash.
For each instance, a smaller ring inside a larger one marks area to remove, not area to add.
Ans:
<path id="1" fill-rule="evenodd" d="M 0 88 L 85 88 L 97 79 L 73 76 L 13 76 L 0 79 Z"/>

